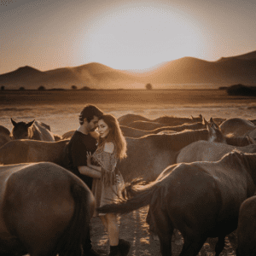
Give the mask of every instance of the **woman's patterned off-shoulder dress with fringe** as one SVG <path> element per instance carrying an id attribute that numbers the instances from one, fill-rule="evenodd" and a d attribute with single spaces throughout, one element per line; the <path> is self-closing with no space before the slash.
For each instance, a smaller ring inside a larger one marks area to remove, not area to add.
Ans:
<path id="1" fill-rule="evenodd" d="M 92 164 L 102 166 L 102 178 L 94 178 L 92 183 L 92 193 L 95 196 L 96 208 L 112 203 L 121 195 L 125 188 L 125 182 L 121 173 L 117 170 L 117 157 L 113 152 L 108 153 L 98 148 L 92 154 Z M 94 212 L 93 217 L 105 215 L 105 213 Z"/>

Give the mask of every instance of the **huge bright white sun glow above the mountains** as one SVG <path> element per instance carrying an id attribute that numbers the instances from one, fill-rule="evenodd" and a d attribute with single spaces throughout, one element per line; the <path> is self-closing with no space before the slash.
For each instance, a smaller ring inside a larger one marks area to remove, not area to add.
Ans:
<path id="1" fill-rule="evenodd" d="M 196 55 L 201 33 L 195 20 L 177 9 L 126 7 L 95 20 L 84 41 L 84 60 L 117 69 L 143 69 Z"/>

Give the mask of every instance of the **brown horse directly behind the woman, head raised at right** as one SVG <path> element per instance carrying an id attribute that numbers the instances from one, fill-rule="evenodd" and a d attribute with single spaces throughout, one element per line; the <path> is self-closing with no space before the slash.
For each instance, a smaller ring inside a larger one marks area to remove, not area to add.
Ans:
<path id="1" fill-rule="evenodd" d="M 171 135 L 147 135 L 139 138 L 125 137 L 127 157 L 120 160 L 117 168 L 125 182 L 142 177 L 146 182 L 153 181 L 167 166 L 176 163 L 179 150 L 199 140 L 225 143 L 221 131 L 213 125 L 207 129 L 181 131 Z"/>

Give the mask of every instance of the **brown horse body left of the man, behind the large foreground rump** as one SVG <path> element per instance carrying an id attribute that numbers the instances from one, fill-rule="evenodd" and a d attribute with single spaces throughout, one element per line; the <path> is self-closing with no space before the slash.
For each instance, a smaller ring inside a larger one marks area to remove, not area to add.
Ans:
<path id="1" fill-rule="evenodd" d="M 13 165 L 30 162 L 53 162 L 63 165 L 69 140 L 44 142 L 35 140 L 12 140 L 0 148 L 0 164 Z"/>

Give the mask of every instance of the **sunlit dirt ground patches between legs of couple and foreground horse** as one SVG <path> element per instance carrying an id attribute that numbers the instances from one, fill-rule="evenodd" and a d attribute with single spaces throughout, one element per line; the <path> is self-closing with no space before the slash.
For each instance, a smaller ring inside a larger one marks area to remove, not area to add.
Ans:
<path id="1" fill-rule="evenodd" d="M 119 237 L 131 242 L 129 256 L 158 256 L 160 254 L 160 241 L 154 240 L 148 232 L 146 217 L 148 207 L 143 207 L 137 211 L 119 216 Z M 91 219 L 91 238 L 93 247 L 99 252 L 109 253 L 108 233 L 104 230 L 99 218 Z M 200 256 L 213 256 L 217 238 L 209 238 L 201 248 Z M 181 253 L 183 247 L 183 237 L 178 230 L 172 236 L 172 256 Z M 231 233 L 225 240 L 224 251 L 220 256 L 236 255 L 236 231 Z"/>

